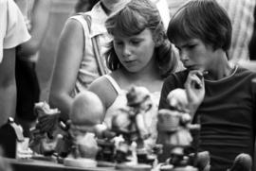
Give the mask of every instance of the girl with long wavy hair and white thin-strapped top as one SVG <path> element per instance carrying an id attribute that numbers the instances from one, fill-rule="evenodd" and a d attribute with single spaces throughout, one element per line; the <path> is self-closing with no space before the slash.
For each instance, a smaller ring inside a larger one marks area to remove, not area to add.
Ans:
<path id="1" fill-rule="evenodd" d="M 133 86 L 146 87 L 155 100 L 164 77 L 174 72 L 177 60 L 158 10 L 149 0 L 131 0 L 105 23 L 113 42 L 106 53 L 111 74 L 96 79 L 89 90 L 103 103 L 102 120 L 111 127 L 112 114 L 126 105 L 126 93 Z M 156 138 L 156 108 L 146 117 Z"/>

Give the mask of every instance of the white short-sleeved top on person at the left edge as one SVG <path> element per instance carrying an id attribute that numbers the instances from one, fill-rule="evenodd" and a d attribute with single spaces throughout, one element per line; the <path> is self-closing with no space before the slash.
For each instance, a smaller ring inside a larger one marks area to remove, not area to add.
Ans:
<path id="1" fill-rule="evenodd" d="M 13 0 L 0 1 L 0 63 L 3 49 L 13 48 L 30 39 L 20 9 Z"/>

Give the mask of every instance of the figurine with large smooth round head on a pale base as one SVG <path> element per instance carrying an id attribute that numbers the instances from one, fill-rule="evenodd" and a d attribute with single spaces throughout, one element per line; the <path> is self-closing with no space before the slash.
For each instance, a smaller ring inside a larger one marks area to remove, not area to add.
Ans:
<path id="1" fill-rule="evenodd" d="M 103 106 L 97 94 L 89 91 L 78 94 L 70 112 L 69 133 L 72 139 L 71 152 L 64 159 L 64 165 L 96 167 L 99 150 L 95 126 L 101 123 Z"/>

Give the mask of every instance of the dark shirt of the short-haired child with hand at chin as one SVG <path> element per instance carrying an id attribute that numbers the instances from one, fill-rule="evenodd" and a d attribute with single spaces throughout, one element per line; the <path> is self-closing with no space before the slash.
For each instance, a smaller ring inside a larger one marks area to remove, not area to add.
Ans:
<path id="1" fill-rule="evenodd" d="M 175 88 L 184 88 L 187 75 L 188 71 L 182 71 L 165 80 L 159 109 L 168 108 L 167 95 Z M 240 153 L 253 156 L 256 91 L 251 80 L 254 77 L 255 73 L 237 67 L 229 77 L 205 80 L 205 98 L 195 118 L 200 116 L 199 150 L 210 151 L 210 170 L 227 170 Z"/>

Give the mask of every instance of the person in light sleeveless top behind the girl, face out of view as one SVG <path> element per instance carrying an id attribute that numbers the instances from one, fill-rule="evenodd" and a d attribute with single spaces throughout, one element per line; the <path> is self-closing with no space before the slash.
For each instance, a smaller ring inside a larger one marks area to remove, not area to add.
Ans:
<path id="1" fill-rule="evenodd" d="M 92 10 L 86 12 L 90 22 L 86 22 L 82 15 L 72 16 L 67 20 L 61 34 L 49 94 L 50 106 L 61 111 L 63 120 L 68 119 L 73 97 L 87 90 L 88 85 L 100 77 L 95 48 L 98 48 L 101 57 L 106 50 L 105 43 L 112 40 L 107 34 L 104 22 L 111 13 L 121 9 L 128 1 L 101 0 Z M 93 45 L 92 39 L 98 40 L 96 45 Z M 104 59 L 100 59 L 104 63 Z M 103 67 L 102 74 L 107 72 L 105 69 Z"/>

